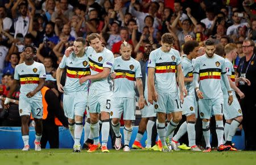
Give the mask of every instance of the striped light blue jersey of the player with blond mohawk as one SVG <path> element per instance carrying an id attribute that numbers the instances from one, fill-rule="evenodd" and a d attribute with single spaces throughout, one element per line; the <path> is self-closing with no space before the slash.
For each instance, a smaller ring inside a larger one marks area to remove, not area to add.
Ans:
<path id="1" fill-rule="evenodd" d="M 142 77 L 141 64 L 132 57 L 128 61 L 117 57 L 113 69 L 116 73 L 113 98 L 135 98 L 135 81 Z"/>

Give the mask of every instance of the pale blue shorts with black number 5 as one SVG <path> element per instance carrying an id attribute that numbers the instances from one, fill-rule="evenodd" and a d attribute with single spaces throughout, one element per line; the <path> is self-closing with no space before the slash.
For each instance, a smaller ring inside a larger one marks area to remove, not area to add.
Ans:
<path id="1" fill-rule="evenodd" d="M 112 108 L 113 91 L 89 90 L 88 111 L 90 113 L 100 113 L 113 111 Z"/>

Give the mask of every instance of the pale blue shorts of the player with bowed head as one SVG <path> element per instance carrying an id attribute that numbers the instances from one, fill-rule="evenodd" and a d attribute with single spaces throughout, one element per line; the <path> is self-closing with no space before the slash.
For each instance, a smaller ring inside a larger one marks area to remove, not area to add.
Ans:
<path id="1" fill-rule="evenodd" d="M 158 101 L 154 101 L 155 112 L 172 113 L 180 112 L 181 103 L 178 92 L 158 93 Z"/>

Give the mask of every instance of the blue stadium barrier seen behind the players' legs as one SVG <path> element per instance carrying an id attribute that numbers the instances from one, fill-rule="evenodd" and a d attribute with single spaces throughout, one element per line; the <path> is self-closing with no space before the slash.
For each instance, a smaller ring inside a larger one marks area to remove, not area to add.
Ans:
<path id="1" fill-rule="evenodd" d="M 133 133 L 131 134 L 131 141 L 129 146 L 133 145 L 135 141 L 136 135 L 138 132 L 138 126 L 133 127 Z M 121 127 L 121 133 L 123 134 L 123 127 Z M 29 144 L 31 148 L 34 148 L 34 140 L 35 140 L 35 128 L 30 127 L 30 139 Z M 233 141 L 236 144 L 237 149 L 244 149 L 245 148 L 245 141 L 244 141 L 244 133 L 242 131 L 238 131 L 236 136 L 233 137 Z M 21 137 L 21 130 L 20 127 L 0 127 L 0 149 L 22 149 L 23 148 L 23 141 Z M 144 133 L 142 138 L 142 146 L 145 146 L 145 141 L 147 138 L 147 134 Z M 101 138 L 100 138 L 101 139 Z M 84 132 L 82 133 L 81 137 L 81 144 L 84 142 Z M 123 143 L 123 137 L 122 137 Z M 69 130 L 64 127 L 59 127 L 59 147 L 60 149 L 72 149 L 73 147 L 73 139 Z M 46 148 L 49 148 L 49 144 L 47 143 Z M 109 137 L 108 141 L 108 148 L 112 148 L 111 138 Z"/>

